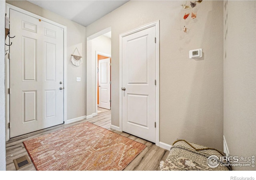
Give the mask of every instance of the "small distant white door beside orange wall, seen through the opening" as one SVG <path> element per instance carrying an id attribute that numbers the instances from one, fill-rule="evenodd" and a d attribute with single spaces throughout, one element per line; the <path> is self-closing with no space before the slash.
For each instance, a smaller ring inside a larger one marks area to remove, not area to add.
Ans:
<path id="1" fill-rule="evenodd" d="M 99 107 L 110 109 L 110 58 L 99 60 Z"/>

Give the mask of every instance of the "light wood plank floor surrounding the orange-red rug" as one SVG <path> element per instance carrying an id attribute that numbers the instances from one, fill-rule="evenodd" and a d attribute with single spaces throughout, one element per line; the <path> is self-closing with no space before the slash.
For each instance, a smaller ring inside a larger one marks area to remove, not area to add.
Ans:
<path id="1" fill-rule="evenodd" d="M 91 122 L 113 132 L 116 132 L 122 136 L 140 142 L 142 144 L 147 145 L 147 147 L 130 163 L 124 170 L 146 170 L 146 171 L 154 171 L 159 170 L 159 163 L 161 160 L 166 160 L 170 151 L 165 150 L 156 146 L 154 143 L 149 142 L 147 140 L 138 138 L 136 136 L 132 136 L 131 134 L 125 132 L 119 132 L 113 129 L 110 129 L 111 124 L 111 110 L 104 110 L 104 112 L 99 113 L 97 116 L 90 118 L 88 120 L 81 120 L 79 122 L 74 122 L 72 124 L 61 124 L 58 126 L 54 126 L 51 128 L 47 128 L 45 130 L 40 130 L 37 132 L 32 132 L 30 134 L 26 134 L 23 136 L 19 136 L 16 138 L 12 138 L 8 142 L 6 142 L 6 170 L 13 171 L 16 170 L 13 160 L 19 158 L 20 156 L 28 155 L 26 148 L 23 145 L 24 140 L 28 140 L 37 136 L 41 136 L 43 134 L 48 134 L 50 132 L 54 132 L 56 130 L 60 130 L 81 122 Z M 30 159 L 31 160 L 31 159 Z M 28 166 L 24 166 L 19 169 L 20 171 L 33 171 L 36 170 L 34 164 L 30 164 Z"/>

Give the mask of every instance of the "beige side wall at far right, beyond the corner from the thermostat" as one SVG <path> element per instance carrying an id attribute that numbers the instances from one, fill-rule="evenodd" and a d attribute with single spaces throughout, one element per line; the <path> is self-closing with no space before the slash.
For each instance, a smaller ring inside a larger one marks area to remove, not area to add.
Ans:
<path id="1" fill-rule="evenodd" d="M 256 1 L 224 2 L 224 136 L 230 156 L 256 156 L 255 12 Z"/>

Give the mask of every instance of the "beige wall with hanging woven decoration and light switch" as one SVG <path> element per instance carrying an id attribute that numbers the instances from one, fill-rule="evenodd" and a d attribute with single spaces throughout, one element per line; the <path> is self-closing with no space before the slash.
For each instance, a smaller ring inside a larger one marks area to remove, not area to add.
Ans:
<path id="1" fill-rule="evenodd" d="M 28 1 L 6 1 L 67 27 L 67 120 L 86 115 L 86 28 L 71 20 L 63 18 Z M 83 64 L 74 66 L 70 61 L 71 54 L 78 48 L 83 56 Z M 81 77 L 81 82 L 76 82 Z"/>

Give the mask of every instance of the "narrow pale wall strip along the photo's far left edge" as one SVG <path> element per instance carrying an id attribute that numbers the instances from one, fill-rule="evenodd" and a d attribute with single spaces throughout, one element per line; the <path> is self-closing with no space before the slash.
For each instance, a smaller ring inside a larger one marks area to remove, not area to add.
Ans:
<path id="1" fill-rule="evenodd" d="M 4 58 L 4 38 L 5 38 L 5 1 L 0 0 L 0 171 L 6 170 L 5 157 L 5 58 Z"/>

